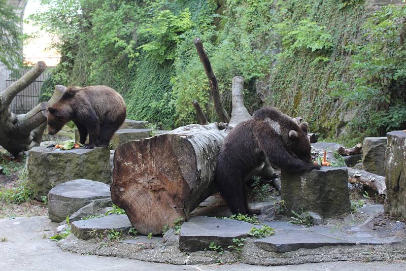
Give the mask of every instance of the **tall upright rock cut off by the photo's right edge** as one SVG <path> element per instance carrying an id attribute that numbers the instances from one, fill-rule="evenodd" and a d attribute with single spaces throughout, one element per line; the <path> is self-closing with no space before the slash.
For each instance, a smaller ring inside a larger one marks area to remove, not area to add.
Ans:
<path id="1" fill-rule="evenodd" d="M 388 132 L 385 211 L 406 219 L 406 132 Z"/>

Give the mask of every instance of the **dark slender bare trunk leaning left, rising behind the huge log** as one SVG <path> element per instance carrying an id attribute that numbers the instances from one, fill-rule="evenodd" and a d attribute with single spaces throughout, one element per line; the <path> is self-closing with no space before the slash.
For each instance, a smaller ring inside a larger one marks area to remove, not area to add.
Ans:
<path id="1" fill-rule="evenodd" d="M 210 63 L 209 57 L 207 56 L 205 49 L 203 48 L 203 43 L 199 38 L 194 39 L 194 45 L 196 47 L 197 53 L 200 57 L 200 61 L 203 64 L 206 72 L 206 76 L 209 79 L 210 89 L 212 90 L 214 108 L 221 122 L 230 122 L 227 112 L 223 107 L 221 102 L 220 92 L 217 84 L 216 76 L 214 75 L 212 64 Z"/>

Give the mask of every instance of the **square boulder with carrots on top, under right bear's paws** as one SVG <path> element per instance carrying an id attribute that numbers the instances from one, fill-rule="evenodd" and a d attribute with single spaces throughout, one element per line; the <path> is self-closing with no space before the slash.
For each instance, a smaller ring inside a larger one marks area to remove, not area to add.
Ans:
<path id="1" fill-rule="evenodd" d="M 304 173 L 282 171 L 282 199 L 288 212 L 335 217 L 351 211 L 347 167 L 323 166 Z"/>

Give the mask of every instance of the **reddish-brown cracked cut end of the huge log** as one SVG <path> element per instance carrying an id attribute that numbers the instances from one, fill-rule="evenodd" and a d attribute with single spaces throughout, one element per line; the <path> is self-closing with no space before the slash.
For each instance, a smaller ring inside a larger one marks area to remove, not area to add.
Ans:
<path id="1" fill-rule="evenodd" d="M 192 155 L 184 144 L 175 144 L 182 150 L 173 148 L 171 136 L 163 134 L 124 144 L 114 154 L 112 200 L 142 234 L 161 233 L 164 225 L 173 226 L 168 222 L 186 219 L 183 199 L 190 187 L 183 171 L 193 163 L 178 161 L 180 155 Z M 198 170 L 189 168 L 187 172 Z"/>

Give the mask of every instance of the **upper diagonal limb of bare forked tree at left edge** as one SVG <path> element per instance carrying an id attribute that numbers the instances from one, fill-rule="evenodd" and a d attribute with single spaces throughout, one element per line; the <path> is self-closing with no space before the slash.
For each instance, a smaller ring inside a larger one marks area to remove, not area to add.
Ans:
<path id="1" fill-rule="evenodd" d="M 31 70 L 6 88 L 2 92 L 2 106 L 4 108 L 9 107 L 13 98 L 35 81 L 44 72 L 46 67 L 47 65 L 44 61 L 38 61 L 37 64 L 32 66 Z"/>

